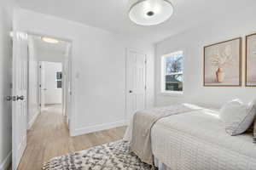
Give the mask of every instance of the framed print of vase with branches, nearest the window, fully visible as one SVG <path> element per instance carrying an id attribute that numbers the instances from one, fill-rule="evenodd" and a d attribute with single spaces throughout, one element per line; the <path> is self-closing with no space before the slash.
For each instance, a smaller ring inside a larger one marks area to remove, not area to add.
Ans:
<path id="1" fill-rule="evenodd" d="M 204 86 L 241 86 L 241 37 L 204 48 Z"/>

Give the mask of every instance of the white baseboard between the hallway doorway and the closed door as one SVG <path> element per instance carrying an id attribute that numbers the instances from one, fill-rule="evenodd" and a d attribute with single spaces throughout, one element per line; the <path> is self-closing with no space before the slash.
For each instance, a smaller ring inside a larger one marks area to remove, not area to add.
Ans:
<path id="1" fill-rule="evenodd" d="M 125 125 L 127 125 L 127 122 L 124 120 L 119 122 L 104 123 L 104 124 L 90 126 L 90 127 L 81 127 L 81 128 L 76 128 L 71 135 L 79 136 L 86 133 L 95 133 L 98 131 L 107 130 L 114 127 L 122 127 Z"/>

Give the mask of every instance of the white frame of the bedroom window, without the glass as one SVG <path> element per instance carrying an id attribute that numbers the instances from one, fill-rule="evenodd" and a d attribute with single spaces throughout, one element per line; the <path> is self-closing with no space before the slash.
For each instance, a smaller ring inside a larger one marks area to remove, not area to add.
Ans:
<path id="1" fill-rule="evenodd" d="M 168 75 L 177 75 L 177 74 L 182 74 L 183 75 L 183 82 L 184 82 L 184 51 L 183 50 L 177 50 L 174 51 L 172 53 L 168 53 L 168 54 L 164 54 L 161 56 L 161 62 L 160 62 L 160 77 L 161 77 L 161 81 L 160 81 L 160 94 L 163 95 L 175 95 L 175 96 L 180 96 L 183 95 L 183 91 L 172 91 L 172 90 L 166 90 L 166 58 L 170 57 L 170 55 L 173 54 L 178 54 L 178 53 L 182 53 L 183 54 L 183 71 L 182 72 L 175 72 L 175 73 L 171 73 Z"/>

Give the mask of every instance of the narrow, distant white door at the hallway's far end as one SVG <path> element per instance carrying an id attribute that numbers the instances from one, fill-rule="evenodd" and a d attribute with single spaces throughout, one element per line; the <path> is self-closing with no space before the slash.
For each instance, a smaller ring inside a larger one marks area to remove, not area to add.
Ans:
<path id="1" fill-rule="evenodd" d="M 39 99 L 41 111 L 44 111 L 45 107 L 45 73 L 44 73 L 44 62 L 39 62 Z"/>

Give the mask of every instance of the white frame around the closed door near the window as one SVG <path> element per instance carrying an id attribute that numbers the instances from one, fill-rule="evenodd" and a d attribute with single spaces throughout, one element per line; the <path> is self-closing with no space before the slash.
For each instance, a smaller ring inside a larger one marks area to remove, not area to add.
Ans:
<path id="1" fill-rule="evenodd" d="M 145 55 L 145 97 L 144 97 L 144 107 L 147 108 L 147 94 L 148 94 L 148 54 L 143 53 L 141 50 L 135 49 L 135 48 L 125 48 L 125 121 L 126 124 L 129 123 L 130 120 L 128 120 L 128 113 L 127 113 L 127 96 L 128 96 L 128 87 L 127 87 L 127 82 L 128 82 L 128 57 L 129 57 L 129 52 L 134 51 L 137 54 L 143 54 Z"/>

